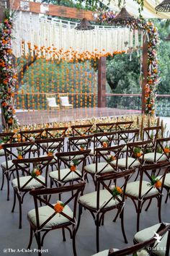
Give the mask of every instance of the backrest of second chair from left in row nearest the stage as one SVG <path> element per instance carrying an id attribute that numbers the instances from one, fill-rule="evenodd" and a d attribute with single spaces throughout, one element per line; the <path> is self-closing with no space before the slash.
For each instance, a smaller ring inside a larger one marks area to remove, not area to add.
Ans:
<path id="1" fill-rule="evenodd" d="M 35 141 L 37 139 L 40 139 L 42 136 L 42 132 L 44 132 L 44 129 L 35 129 L 35 130 L 29 130 L 29 131 L 21 131 L 19 134 L 21 135 L 21 141 Z"/>

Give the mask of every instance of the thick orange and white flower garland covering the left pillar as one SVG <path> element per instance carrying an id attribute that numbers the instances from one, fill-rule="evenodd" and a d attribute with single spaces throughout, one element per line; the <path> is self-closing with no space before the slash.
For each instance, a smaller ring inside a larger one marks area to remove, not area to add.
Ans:
<path id="1" fill-rule="evenodd" d="M 17 74 L 12 64 L 12 22 L 13 14 L 5 12 L 4 22 L 0 29 L 0 87 L 1 108 L 4 114 L 6 127 L 18 124 L 14 110 L 14 86 Z"/>

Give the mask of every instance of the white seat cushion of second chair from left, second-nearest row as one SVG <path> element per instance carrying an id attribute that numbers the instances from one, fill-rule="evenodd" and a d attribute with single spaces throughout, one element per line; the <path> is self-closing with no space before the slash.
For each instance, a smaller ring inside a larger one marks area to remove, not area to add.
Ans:
<path id="1" fill-rule="evenodd" d="M 70 172 L 70 174 L 68 174 Z M 81 172 L 79 170 L 76 170 L 76 172 L 81 176 Z M 68 176 L 66 176 L 68 174 Z M 50 178 L 55 179 L 56 181 L 59 181 L 58 179 L 58 171 L 51 171 L 49 173 Z M 63 179 L 66 176 L 65 179 Z M 69 168 L 61 169 L 61 180 L 63 179 L 63 182 L 69 182 L 73 179 L 80 179 L 80 177 L 74 172 L 71 171 Z"/>

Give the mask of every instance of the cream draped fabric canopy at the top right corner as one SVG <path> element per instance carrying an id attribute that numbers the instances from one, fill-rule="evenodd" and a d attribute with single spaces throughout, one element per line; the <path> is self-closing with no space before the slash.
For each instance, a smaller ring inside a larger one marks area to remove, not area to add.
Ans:
<path id="1" fill-rule="evenodd" d="M 142 15 L 146 19 L 159 18 L 159 19 L 170 19 L 170 12 L 156 12 L 155 7 L 161 3 L 162 0 L 144 0 L 144 8 Z M 103 4 L 107 4 L 108 0 L 102 0 Z M 126 0 L 125 8 L 127 11 L 135 16 L 139 16 L 138 12 L 139 5 L 135 0 Z M 111 0 L 109 8 L 115 12 L 120 12 L 118 7 L 118 0 Z"/>

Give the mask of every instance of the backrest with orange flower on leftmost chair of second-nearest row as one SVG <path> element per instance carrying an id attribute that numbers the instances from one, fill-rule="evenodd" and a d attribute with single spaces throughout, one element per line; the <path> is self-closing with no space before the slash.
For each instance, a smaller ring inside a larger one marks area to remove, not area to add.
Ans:
<path id="1" fill-rule="evenodd" d="M 15 171 L 17 173 L 17 184 L 19 191 L 24 191 L 25 187 L 35 179 L 36 182 L 40 183 L 42 187 L 48 187 L 48 166 L 50 161 L 53 160 L 53 156 L 47 156 L 42 158 L 25 158 L 25 159 L 14 159 Z M 20 173 L 30 178 L 24 184 L 20 183 Z M 40 176 L 45 174 L 45 182 L 40 179 Z M 29 189 L 30 190 L 30 189 Z"/>

